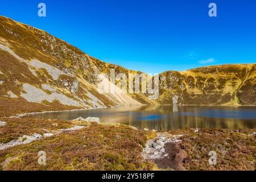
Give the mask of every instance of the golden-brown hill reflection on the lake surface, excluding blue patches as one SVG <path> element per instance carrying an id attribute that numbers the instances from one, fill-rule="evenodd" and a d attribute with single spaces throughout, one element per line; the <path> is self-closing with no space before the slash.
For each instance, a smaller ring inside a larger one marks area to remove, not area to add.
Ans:
<path id="1" fill-rule="evenodd" d="M 133 111 L 141 111 L 150 115 L 163 114 L 167 117 L 161 119 L 152 119 L 151 121 L 134 121 L 132 117 L 129 119 L 129 125 L 138 127 L 139 129 L 148 128 L 156 130 L 170 130 L 179 129 L 184 127 L 193 128 L 255 128 L 254 119 L 242 119 L 242 118 L 218 118 L 218 117 L 201 117 L 200 113 L 202 110 L 225 110 L 227 112 L 238 111 L 241 112 L 241 107 L 210 107 L 210 106 L 166 106 L 166 105 L 150 105 L 150 106 L 139 106 Z M 246 109 L 246 107 L 243 107 Z M 188 112 L 193 115 L 183 115 Z"/>

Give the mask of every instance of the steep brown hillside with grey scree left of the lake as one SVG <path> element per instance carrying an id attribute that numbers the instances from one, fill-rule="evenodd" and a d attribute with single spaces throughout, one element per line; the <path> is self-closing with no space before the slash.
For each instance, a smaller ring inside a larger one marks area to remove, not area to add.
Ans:
<path id="1" fill-rule="evenodd" d="M 140 104 L 125 93 L 97 92 L 100 73 L 134 71 L 9 18 L 0 16 L 0 24 L 0 115 Z"/>

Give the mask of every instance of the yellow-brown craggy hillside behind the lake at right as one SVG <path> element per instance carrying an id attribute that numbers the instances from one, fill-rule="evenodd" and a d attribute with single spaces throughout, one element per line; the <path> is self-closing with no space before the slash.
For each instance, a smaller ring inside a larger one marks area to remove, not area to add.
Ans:
<path id="1" fill-rule="evenodd" d="M 160 75 L 161 104 L 256 105 L 256 64 L 168 71 Z"/>

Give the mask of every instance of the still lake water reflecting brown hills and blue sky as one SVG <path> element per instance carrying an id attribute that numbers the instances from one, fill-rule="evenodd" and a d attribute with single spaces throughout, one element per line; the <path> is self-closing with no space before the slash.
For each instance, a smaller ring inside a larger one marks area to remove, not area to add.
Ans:
<path id="1" fill-rule="evenodd" d="M 99 117 L 101 122 L 123 123 L 138 129 L 256 128 L 256 107 L 231 106 L 126 106 L 114 109 L 63 111 L 31 115 L 32 118 L 73 120 Z"/>

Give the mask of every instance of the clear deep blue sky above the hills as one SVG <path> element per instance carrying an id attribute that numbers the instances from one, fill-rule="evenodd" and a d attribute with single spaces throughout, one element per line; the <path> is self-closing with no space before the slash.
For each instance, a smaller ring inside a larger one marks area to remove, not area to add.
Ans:
<path id="1" fill-rule="evenodd" d="M 47 8 L 43 18 L 40 2 Z M 208 15 L 211 2 L 217 17 Z M 256 63 L 254 0 L 9 0 L 1 2 L 0 15 L 146 73 Z"/>

